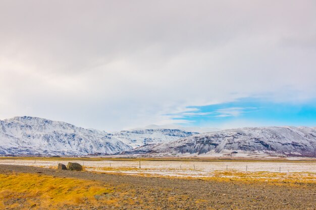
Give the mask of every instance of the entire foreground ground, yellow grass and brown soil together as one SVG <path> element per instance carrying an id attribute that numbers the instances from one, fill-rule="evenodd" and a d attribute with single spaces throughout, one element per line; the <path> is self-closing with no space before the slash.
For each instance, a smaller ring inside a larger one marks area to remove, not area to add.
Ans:
<path id="1" fill-rule="evenodd" d="M 0 209 L 316 208 L 314 173 L 214 171 L 212 177 L 180 178 L 111 173 L 0 165 Z"/>

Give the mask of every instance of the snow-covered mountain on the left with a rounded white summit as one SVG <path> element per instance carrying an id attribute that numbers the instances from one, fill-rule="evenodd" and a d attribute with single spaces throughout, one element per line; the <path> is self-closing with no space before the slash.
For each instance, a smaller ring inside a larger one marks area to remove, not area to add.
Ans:
<path id="1" fill-rule="evenodd" d="M 132 149 L 111 134 L 37 117 L 0 120 L 0 155 L 117 154 Z"/>

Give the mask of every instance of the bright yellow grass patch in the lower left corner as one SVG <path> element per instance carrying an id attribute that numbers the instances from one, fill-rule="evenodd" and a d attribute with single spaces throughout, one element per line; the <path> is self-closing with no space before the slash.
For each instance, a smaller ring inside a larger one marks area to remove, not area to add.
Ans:
<path id="1" fill-rule="evenodd" d="M 65 204 L 93 203 L 96 201 L 95 195 L 112 191 L 95 181 L 36 174 L 0 174 L 0 209 L 56 209 Z M 12 203 L 16 198 L 26 201 Z"/>

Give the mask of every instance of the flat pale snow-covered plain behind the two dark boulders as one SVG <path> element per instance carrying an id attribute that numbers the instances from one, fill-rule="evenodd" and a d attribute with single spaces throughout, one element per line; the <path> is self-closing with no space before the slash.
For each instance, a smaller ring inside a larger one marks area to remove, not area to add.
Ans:
<path id="1" fill-rule="evenodd" d="M 216 171 L 240 171 L 240 172 L 309 172 L 316 175 L 316 161 L 311 162 L 237 162 L 237 161 L 50 161 L 50 160 L 12 160 L 2 159 L 0 164 L 26 165 L 45 168 L 57 167 L 58 163 L 67 165 L 68 162 L 82 164 L 88 171 L 114 172 L 122 174 L 151 174 L 163 176 L 193 176 L 210 177 Z"/>

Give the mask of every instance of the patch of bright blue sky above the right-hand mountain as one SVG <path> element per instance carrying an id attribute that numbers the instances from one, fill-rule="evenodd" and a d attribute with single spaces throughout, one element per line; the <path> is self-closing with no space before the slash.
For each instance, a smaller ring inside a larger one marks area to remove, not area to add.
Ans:
<path id="1" fill-rule="evenodd" d="M 187 121 L 190 126 L 214 126 L 230 121 L 249 122 L 247 126 L 316 126 L 316 100 L 304 103 L 279 103 L 258 98 L 234 102 L 187 107 L 192 111 L 170 114 L 174 120 Z"/>

